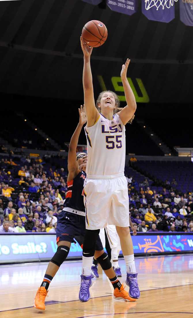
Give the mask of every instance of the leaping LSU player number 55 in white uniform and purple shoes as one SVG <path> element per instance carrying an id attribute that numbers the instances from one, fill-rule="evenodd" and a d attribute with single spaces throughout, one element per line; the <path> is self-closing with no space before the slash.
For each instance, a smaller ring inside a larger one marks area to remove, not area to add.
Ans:
<path id="1" fill-rule="evenodd" d="M 91 266 L 95 252 L 95 243 L 100 229 L 107 224 L 116 225 L 121 248 L 127 267 L 126 284 L 131 298 L 140 297 L 137 273 L 134 261 L 133 244 L 130 236 L 129 197 L 125 166 L 125 124 L 133 118 L 136 100 L 127 80 L 130 60 L 122 66 L 121 79 L 127 106 L 120 113 L 118 96 L 111 91 L 99 94 L 94 100 L 90 56 L 92 48 L 83 42 L 84 54 L 83 90 L 87 114 L 85 133 L 87 138 L 87 178 L 84 182 L 84 204 L 86 210 L 86 234 L 83 243 L 83 265 L 81 287 L 90 299 Z M 105 258 L 105 257 L 104 257 Z M 86 301 L 86 298 L 84 298 Z"/>

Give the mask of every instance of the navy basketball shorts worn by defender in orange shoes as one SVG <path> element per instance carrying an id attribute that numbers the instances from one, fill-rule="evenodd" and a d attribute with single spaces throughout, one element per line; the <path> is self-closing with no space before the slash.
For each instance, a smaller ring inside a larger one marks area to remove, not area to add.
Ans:
<path id="1" fill-rule="evenodd" d="M 83 245 L 83 240 L 86 232 L 85 217 L 61 211 L 57 216 L 56 241 L 68 241 L 75 243 L 75 238 L 79 245 Z M 102 251 L 103 245 L 98 236 L 95 246 L 96 251 Z"/>

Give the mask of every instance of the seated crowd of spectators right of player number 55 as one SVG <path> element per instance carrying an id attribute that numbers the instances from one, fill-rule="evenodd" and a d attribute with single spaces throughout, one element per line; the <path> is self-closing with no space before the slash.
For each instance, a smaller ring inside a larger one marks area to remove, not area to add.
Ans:
<path id="1" fill-rule="evenodd" d="M 178 193 L 172 186 L 152 190 L 147 179 L 138 184 L 132 176 L 127 181 L 131 220 L 138 232 L 193 232 L 193 192 Z"/>

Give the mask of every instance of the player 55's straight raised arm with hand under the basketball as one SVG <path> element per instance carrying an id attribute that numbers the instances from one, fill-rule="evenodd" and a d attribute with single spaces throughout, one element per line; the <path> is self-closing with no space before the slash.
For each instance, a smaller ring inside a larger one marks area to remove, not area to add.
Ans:
<path id="1" fill-rule="evenodd" d="M 87 126 L 91 127 L 99 117 L 99 112 L 95 107 L 95 99 L 92 84 L 92 73 L 90 67 L 90 55 L 92 53 L 92 47 L 89 47 L 80 38 L 81 47 L 84 54 L 84 67 L 83 67 L 83 90 L 84 90 L 84 105 L 87 115 Z"/>

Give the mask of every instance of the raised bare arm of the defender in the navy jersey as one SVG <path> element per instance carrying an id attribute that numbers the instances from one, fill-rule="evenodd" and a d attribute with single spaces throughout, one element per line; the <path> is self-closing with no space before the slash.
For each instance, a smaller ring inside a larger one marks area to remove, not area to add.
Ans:
<path id="1" fill-rule="evenodd" d="M 81 105 L 81 107 L 78 108 L 78 112 L 79 112 L 79 123 L 70 140 L 69 151 L 68 151 L 68 171 L 69 171 L 70 180 L 74 179 L 75 176 L 77 176 L 77 174 L 79 173 L 79 166 L 77 162 L 78 138 L 83 128 L 83 125 L 87 121 L 84 105 L 83 106 Z"/>

